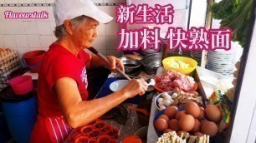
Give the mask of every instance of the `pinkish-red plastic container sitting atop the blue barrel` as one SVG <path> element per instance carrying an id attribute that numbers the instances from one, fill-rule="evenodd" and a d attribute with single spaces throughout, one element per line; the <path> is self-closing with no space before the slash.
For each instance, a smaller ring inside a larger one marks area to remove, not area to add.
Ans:
<path id="1" fill-rule="evenodd" d="M 16 95 L 24 95 L 30 91 L 33 91 L 32 76 L 17 76 L 9 81 Z"/>

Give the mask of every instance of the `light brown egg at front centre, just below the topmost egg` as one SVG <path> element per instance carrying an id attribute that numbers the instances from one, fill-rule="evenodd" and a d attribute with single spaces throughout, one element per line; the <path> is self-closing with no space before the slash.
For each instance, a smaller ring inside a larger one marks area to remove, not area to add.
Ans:
<path id="1" fill-rule="evenodd" d="M 179 121 L 179 127 L 182 131 L 192 131 L 195 126 L 195 119 L 191 115 L 182 116 Z"/>

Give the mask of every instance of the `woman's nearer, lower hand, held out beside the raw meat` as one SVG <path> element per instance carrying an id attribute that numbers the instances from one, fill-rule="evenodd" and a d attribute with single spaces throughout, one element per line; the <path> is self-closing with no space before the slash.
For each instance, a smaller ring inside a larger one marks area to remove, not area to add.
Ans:
<path id="1" fill-rule="evenodd" d="M 126 94 L 128 94 L 129 98 L 136 96 L 136 95 L 144 95 L 148 86 L 144 79 L 132 79 L 128 84 L 121 89 L 121 91 L 124 91 Z"/>

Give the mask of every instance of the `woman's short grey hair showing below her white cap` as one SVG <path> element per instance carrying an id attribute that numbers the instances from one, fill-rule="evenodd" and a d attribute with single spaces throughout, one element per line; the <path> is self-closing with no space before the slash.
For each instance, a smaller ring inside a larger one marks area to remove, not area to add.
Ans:
<path id="1" fill-rule="evenodd" d="M 76 27 L 77 29 L 79 29 L 82 26 L 82 24 L 84 24 L 84 22 L 87 21 L 88 18 L 89 17 L 86 17 L 86 16 L 82 15 L 82 16 L 74 17 L 73 19 L 70 19 L 70 21 L 72 23 L 72 27 Z M 55 27 L 54 35 L 58 39 L 60 37 L 63 37 L 65 35 L 67 35 L 66 29 L 64 27 L 64 24 Z"/>

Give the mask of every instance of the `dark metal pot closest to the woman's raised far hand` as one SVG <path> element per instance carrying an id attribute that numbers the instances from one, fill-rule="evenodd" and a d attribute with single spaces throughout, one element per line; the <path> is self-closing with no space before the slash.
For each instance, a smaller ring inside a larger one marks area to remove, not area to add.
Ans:
<path id="1" fill-rule="evenodd" d="M 131 76 L 138 76 L 141 69 L 141 61 L 136 59 L 131 59 L 127 57 L 120 57 L 120 60 L 123 62 L 125 67 L 125 74 Z"/>

